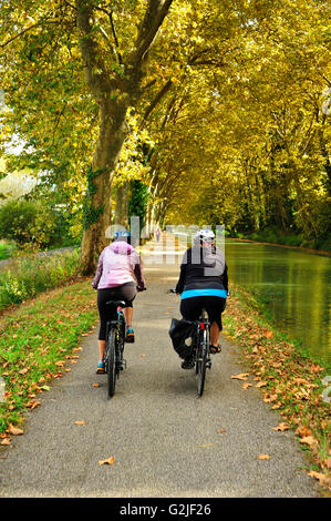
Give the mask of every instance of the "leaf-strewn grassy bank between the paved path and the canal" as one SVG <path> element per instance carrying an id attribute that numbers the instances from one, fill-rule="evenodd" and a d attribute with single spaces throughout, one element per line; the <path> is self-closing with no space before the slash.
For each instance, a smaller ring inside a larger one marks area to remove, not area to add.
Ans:
<path id="1" fill-rule="evenodd" d="M 330 402 L 322 382 L 331 368 L 279 333 L 257 300 L 232 283 L 224 324 L 225 335 L 241 348 L 245 378 L 254 378 L 263 401 L 283 419 L 278 430 L 294 432 L 308 454 L 307 472 L 331 490 Z"/>

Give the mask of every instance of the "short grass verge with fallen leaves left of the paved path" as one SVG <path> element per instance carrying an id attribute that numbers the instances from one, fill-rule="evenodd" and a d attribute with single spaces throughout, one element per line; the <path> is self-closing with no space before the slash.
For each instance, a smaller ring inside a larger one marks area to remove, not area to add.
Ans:
<path id="1" fill-rule="evenodd" d="M 70 371 L 80 355 L 80 337 L 97 319 L 91 279 L 53 289 L 2 314 L 0 319 L 0 443 L 22 427 L 24 412 L 39 406 L 48 384 Z"/>

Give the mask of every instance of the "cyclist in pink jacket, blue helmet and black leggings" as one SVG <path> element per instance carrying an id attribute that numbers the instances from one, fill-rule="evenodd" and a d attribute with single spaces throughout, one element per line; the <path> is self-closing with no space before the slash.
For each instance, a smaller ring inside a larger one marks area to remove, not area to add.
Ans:
<path id="1" fill-rule="evenodd" d="M 100 315 L 100 330 L 99 330 L 99 364 L 97 374 L 104 374 L 104 350 L 105 350 L 105 335 L 106 335 L 106 302 L 108 300 L 124 300 L 126 307 L 124 308 L 126 321 L 126 338 L 127 343 L 134 341 L 134 330 L 132 328 L 133 317 L 133 300 L 137 290 L 143 292 L 146 289 L 146 284 L 143 275 L 142 260 L 138 253 L 130 244 L 130 232 L 116 232 L 113 243 L 106 246 L 97 262 L 96 273 L 92 283 L 94 289 L 97 289 L 97 309 Z"/>

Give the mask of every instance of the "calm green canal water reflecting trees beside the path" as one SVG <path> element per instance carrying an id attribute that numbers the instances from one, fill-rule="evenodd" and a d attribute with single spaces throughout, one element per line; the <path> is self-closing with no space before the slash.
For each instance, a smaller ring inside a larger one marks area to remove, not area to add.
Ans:
<path id="1" fill-rule="evenodd" d="M 230 239 L 225 253 L 230 280 L 257 293 L 289 337 L 331 361 L 331 258 Z"/>

